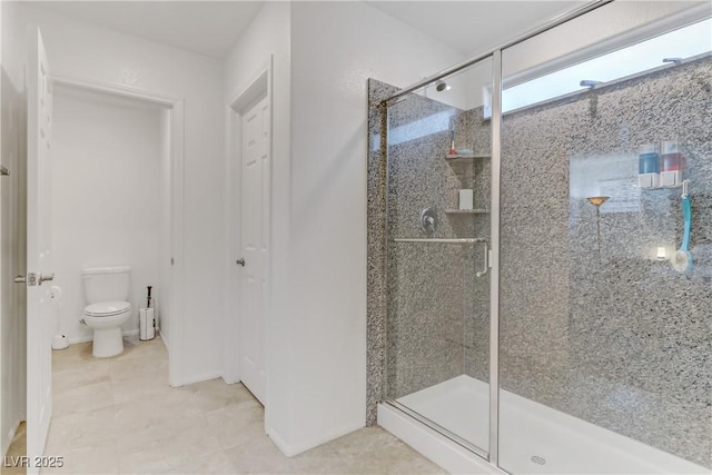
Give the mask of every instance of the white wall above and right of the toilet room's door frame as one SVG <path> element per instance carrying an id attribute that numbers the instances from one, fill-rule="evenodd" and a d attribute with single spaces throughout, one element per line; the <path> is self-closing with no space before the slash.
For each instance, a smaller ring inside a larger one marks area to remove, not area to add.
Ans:
<path id="1" fill-rule="evenodd" d="M 181 334 L 186 337 L 179 379 L 187 384 L 218 376 L 225 301 L 224 286 L 216 279 L 225 268 L 221 63 L 28 3 L 17 8 L 19 29 L 28 23 L 40 27 L 56 76 L 185 100 Z"/>

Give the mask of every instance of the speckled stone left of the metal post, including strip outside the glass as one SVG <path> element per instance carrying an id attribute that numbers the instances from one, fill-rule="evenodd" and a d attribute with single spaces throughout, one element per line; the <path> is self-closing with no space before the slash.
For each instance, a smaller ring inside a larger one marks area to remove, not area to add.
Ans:
<path id="1" fill-rule="evenodd" d="M 474 189 L 476 208 L 490 208 L 490 161 L 449 162 L 448 126 L 457 148 L 487 155 L 490 141 L 488 127 L 477 118 L 482 109 L 463 111 L 413 93 L 384 117 L 378 102 L 397 89 L 374 80 L 369 86 L 368 420 L 375 423 L 383 397 L 481 375 L 477 368 L 486 373 L 488 339 L 479 331 L 488 327 L 488 279 L 475 278 L 484 267 L 484 246 L 393 239 L 488 237 L 487 214 L 448 211 L 458 208 L 462 188 Z M 400 137 L 386 144 L 388 131 Z M 436 212 L 435 232 L 421 226 L 424 208 Z"/>

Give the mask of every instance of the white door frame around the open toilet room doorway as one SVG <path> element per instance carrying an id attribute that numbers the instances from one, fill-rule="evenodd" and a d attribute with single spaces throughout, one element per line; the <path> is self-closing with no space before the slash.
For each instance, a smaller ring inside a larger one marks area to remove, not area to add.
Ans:
<path id="1" fill-rule="evenodd" d="M 174 98 L 147 91 L 139 88 L 131 88 L 113 82 L 83 81 L 68 77 L 53 76 L 55 85 L 68 86 L 92 92 L 103 92 L 113 96 L 120 96 L 130 99 L 137 99 L 145 102 L 151 102 L 162 106 L 169 113 L 169 162 L 170 162 L 170 217 L 169 217 L 169 236 L 172 243 L 171 259 L 174 261 L 170 281 L 169 306 L 170 308 L 170 340 L 167 343 L 168 348 L 168 384 L 170 386 L 182 386 L 185 383 L 184 375 L 184 354 L 185 346 L 185 318 L 182 310 L 182 295 L 185 288 L 185 267 L 184 267 L 184 180 L 185 180 L 185 99 Z M 170 243 L 169 243 L 170 245 Z"/>

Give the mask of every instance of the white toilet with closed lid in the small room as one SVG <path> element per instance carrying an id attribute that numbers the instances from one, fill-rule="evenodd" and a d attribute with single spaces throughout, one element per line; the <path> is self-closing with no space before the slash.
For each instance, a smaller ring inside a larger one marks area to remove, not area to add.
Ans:
<path id="1" fill-rule="evenodd" d="M 81 271 L 88 304 L 81 323 L 93 329 L 92 355 L 96 357 L 123 352 L 121 325 L 131 316 L 130 276 L 128 266 L 89 267 Z"/>

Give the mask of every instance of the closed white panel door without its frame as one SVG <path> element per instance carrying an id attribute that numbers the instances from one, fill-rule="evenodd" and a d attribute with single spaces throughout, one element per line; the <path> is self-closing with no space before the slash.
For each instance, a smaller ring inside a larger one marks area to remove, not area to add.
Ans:
<path id="1" fill-rule="evenodd" d="M 269 246 L 269 102 L 261 99 L 243 115 L 241 358 L 243 384 L 265 402 L 265 308 Z"/>

